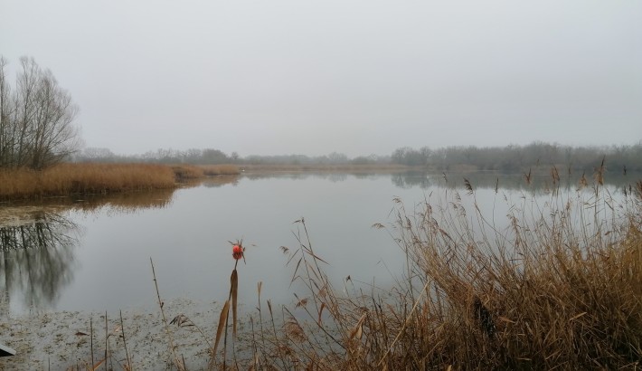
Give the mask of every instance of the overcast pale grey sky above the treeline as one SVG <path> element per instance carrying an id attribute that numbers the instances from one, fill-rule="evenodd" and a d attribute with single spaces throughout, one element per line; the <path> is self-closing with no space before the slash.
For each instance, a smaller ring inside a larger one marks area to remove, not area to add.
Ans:
<path id="1" fill-rule="evenodd" d="M 642 2 L 0 0 L 87 147 L 350 157 L 642 139 Z"/>

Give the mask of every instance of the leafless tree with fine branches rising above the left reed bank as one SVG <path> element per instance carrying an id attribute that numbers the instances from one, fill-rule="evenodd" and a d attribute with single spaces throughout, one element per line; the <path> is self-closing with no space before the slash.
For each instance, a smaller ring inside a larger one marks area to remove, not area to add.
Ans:
<path id="1" fill-rule="evenodd" d="M 42 169 L 69 157 L 80 145 L 73 125 L 78 107 L 69 92 L 52 71 L 23 57 L 12 93 L 5 65 L 0 58 L 0 166 Z"/>

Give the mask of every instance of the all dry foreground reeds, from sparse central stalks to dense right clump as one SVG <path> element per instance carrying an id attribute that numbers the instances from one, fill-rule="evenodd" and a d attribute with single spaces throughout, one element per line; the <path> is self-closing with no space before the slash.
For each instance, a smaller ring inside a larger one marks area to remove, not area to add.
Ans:
<path id="1" fill-rule="evenodd" d="M 553 174 L 552 183 L 559 185 L 559 176 Z M 577 193 L 553 189 L 544 201 L 523 195 L 521 203 L 510 205 L 505 230 L 479 212 L 474 185 L 466 181 L 466 187 L 467 195 L 428 199 L 411 213 L 395 200 L 396 223 L 375 225 L 386 228 L 407 257 L 403 278 L 392 290 L 363 290 L 349 279 L 335 290 L 305 222 L 298 221 L 297 248 L 283 250 L 293 282 L 306 287 L 307 295 L 299 293 L 293 307 L 274 309 L 269 300 L 261 303 L 259 287 L 258 312 L 251 319 L 254 353 L 241 368 L 638 365 L 642 182 L 629 187 L 620 204 L 601 175 Z M 304 318 L 293 314 L 301 309 Z M 223 321 L 225 311 L 217 340 Z M 237 359 L 233 347 L 219 347 L 212 368 L 233 369 Z"/>

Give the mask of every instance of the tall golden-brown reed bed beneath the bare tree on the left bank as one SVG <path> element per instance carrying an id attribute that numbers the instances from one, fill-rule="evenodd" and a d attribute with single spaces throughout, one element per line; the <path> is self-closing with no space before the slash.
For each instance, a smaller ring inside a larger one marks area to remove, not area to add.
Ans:
<path id="1" fill-rule="evenodd" d="M 169 166 L 145 164 L 62 164 L 42 171 L 0 171 L 0 199 L 35 199 L 72 194 L 175 187 Z"/>

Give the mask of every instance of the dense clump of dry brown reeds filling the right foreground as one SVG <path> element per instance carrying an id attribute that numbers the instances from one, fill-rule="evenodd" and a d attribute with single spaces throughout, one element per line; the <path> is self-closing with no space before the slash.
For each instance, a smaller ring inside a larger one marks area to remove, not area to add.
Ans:
<path id="1" fill-rule="evenodd" d="M 397 303 L 408 313 L 393 332 L 401 344 L 376 354 L 382 365 L 617 369 L 642 359 L 640 198 L 618 208 L 600 185 L 587 198 L 526 198 L 496 231 L 457 197 L 398 209 L 394 233 L 416 263 Z"/>

